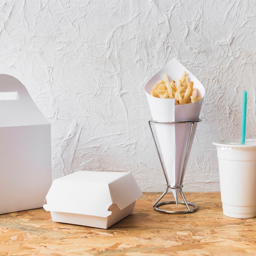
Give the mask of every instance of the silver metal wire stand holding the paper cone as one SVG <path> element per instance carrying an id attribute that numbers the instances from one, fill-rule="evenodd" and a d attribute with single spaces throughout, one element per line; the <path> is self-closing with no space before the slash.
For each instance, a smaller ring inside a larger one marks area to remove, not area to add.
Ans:
<path id="1" fill-rule="evenodd" d="M 198 209 L 198 206 L 196 204 L 193 204 L 191 202 L 187 202 L 186 201 L 186 198 L 184 197 L 184 194 L 183 194 L 183 191 L 182 191 L 182 187 L 183 187 L 182 183 L 183 183 L 183 178 L 184 178 L 185 169 L 186 169 L 186 163 L 187 163 L 188 155 L 189 155 L 189 146 L 191 144 L 191 137 L 192 137 L 192 133 L 193 133 L 193 126 L 194 126 L 194 124 L 196 122 L 200 122 L 200 121 L 202 121 L 202 119 L 192 120 L 192 121 L 155 121 L 155 120 L 151 119 L 151 120 L 148 121 L 148 124 L 149 124 L 149 127 L 150 127 L 150 131 L 151 131 L 152 137 L 154 139 L 155 148 L 157 150 L 157 155 L 159 157 L 162 169 L 164 171 L 164 177 L 165 177 L 166 183 L 167 183 L 166 190 L 157 199 L 157 201 L 153 204 L 153 207 L 154 207 L 154 209 L 156 211 L 159 211 L 159 212 L 162 212 L 162 213 L 183 214 L 183 213 L 192 213 L 194 211 L 197 211 L 197 209 Z M 180 186 L 171 186 L 170 183 L 169 183 L 168 176 L 167 176 L 167 173 L 166 173 L 166 170 L 164 168 L 163 161 L 162 161 L 162 157 L 161 157 L 159 149 L 157 147 L 157 143 L 156 143 L 156 140 L 155 140 L 154 132 L 153 132 L 152 127 L 151 127 L 151 123 L 159 123 L 159 124 L 191 124 L 190 133 L 189 133 L 189 139 L 188 139 L 188 143 L 187 143 L 187 147 L 186 147 L 186 155 L 185 155 L 184 164 L 183 164 L 183 168 L 182 168 L 182 177 L 181 177 Z M 185 204 L 186 208 L 187 208 L 186 211 L 170 211 L 170 210 L 165 210 L 165 209 L 158 208 L 161 205 L 176 204 L 176 201 L 159 202 L 164 197 L 164 195 L 166 195 L 166 193 L 168 192 L 168 189 L 180 189 L 180 194 L 182 196 L 183 201 L 178 201 L 177 203 L 178 204 Z M 190 208 L 189 206 L 191 206 L 193 208 Z"/>

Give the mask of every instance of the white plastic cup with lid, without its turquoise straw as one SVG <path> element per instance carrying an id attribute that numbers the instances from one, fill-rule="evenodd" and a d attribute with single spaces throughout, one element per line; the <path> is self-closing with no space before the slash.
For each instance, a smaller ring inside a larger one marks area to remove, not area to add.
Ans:
<path id="1" fill-rule="evenodd" d="M 232 218 L 256 217 L 256 140 L 227 139 L 217 147 L 223 214 Z"/>

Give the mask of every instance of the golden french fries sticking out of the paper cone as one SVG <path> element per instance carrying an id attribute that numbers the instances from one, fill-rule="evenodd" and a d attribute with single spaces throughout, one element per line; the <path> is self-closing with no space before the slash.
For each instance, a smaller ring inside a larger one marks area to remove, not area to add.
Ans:
<path id="1" fill-rule="evenodd" d="M 194 103 L 202 99 L 197 95 L 197 88 L 193 88 L 194 83 L 189 82 L 186 70 L 184 70 L 181 78 L 176 81 L 170 81 L 166 73 L 164 73 L 163 79 L 153 86 L 150 93 L 152 96 L 162 99 L 175 99 L 175 105 Z"/>

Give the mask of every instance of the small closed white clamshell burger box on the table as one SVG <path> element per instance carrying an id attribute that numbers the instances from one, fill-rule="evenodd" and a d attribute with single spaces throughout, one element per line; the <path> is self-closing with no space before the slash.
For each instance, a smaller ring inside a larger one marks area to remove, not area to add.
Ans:
<path id="1" fill-rule="evenodd" d="M 141 195 L 131 173 L 77 171 L 53 181 L 43 208 L 54 222 L 107 229 L 130 215 Z"/>

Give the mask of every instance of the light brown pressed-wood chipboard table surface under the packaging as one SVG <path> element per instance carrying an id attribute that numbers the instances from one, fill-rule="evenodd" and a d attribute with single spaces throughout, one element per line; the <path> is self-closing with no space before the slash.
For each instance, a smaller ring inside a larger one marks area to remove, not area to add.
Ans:
<path id="1" fill-rule="evenodd" d="M 178 215 L 153 209 L 160 195 L 144 193 L 134 212 L 109 229 L 52 222 L 43 208 L 2 214 L 0 255 L 256 255 L 256 218 L 224 216 L 220 193 L 185 193 L 198 211 Z"/>

